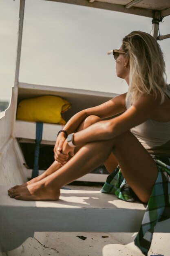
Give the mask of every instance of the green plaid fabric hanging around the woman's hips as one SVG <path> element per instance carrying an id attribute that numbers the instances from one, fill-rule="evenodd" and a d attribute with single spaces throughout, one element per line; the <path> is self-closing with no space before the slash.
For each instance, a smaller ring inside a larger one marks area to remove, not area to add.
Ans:
<path id="1" fill-rule="evenodd" d="M 139 233 L 135 238 L 135 245 L 146 256 L 152 242 L 155 225 L 158 221 L 170 218 L 170 158 L 152 157 L 157 164 L 158 177 L 147 204 Z M 119 166 L 108 176 L 101 192 L 113 193 L 117 195 L 117 198 L 128 202 L 137 200 L 137 196 L 127 184 Z"/>

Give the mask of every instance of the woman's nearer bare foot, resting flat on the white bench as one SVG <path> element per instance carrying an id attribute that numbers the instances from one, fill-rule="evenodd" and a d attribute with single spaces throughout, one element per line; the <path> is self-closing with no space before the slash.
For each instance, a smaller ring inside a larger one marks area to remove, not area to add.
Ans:
<path id="1" fill-rule="evenodd" d="M 28 186 L 20 186 L 15 189 L 9 189 L 8 195 L 17 200 L 58 200 L 60 189 L 51 189 L 45 186 L 43 182 L 35 182 Z"/>

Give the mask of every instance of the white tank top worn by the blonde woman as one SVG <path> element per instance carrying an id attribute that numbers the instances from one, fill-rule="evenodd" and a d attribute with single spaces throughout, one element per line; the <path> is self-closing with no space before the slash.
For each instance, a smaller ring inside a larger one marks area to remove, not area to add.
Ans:
<path id="1" fill-rule="evenodd" d="M 166 95 L 170 98 L 170 85 Z M 126 99 L 125 106 L 126 109 L 130 108 L 130 97 Z M 130 131 L 150 154 L 170 157 L 170 121 L 158 122 L 148 119 Z"/>

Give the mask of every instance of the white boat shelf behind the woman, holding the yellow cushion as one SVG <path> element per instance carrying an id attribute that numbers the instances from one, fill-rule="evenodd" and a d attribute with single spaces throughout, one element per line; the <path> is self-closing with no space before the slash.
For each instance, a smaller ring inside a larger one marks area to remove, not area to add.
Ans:
<path id="1" fill-rule="evenodd" d="M 32 84 L 19 83 L 18 103 L 23 99 L 29 99 L 43 95 L 56 95 L 66 99 L 71 103 L 71 109 L 64 113 L 64 118 L 66 121 L 68 121 L 68 119 L 70 119 L 76 112 L 104 103 L 112 97 L 115 97 L 117 94 L 108 92 L 95 92 L 89 90 L 57 88 L 44 85 L 35 86 Z M 57 138 L 57 133 L 62 128 L 62 125 L 44 123 L 41 144 L 54 145 Z M 15 120 L 14 137 L 17 138 L 19 142 L 35 143 L 35 134 L 35 122 Z M 22 154 L 20 155 L 20 160 L 22 163 L 25 162 Z M 25 172 L 26 177 L 31 178 L 31 173 L 32 170 L 27 169 Z M 42 170 L 39 171 L 39 174 L 41 173 Z M 89 173 L 78 180 L 84 182 L 104 182 L 106 180 L 106 177 L 107 174 L 100 175 L 95 173 Z"/>

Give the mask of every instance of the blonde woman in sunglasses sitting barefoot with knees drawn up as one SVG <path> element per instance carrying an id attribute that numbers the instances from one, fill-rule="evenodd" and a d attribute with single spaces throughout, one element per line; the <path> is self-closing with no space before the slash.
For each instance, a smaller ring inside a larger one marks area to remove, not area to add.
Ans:
<path id="1" fill-rule="evenodd" d="M 128 92 L 74 115 L 57 137 L 52 166 L 41 176 L 9 189 L 11 198 L 57 200 L 63 185 L 103 163 L 109 173 L 119 164 L 119 194 L 122 175 L 137 198 L 148 205 L 160 173 L 163 191 L 167 190 L 170 86 L 165 81 L 161 49 L 149 34 L 133 31 L 123 39 L 119 50 L 113 50 L 113 55 L 117 76 L 126 80 Z M 106 117 L 110 119 L 102 121 Z M 166 191 L 166 198 L 169 194 Z M 164 215 L 170 217 L 168 211 Z"/>

